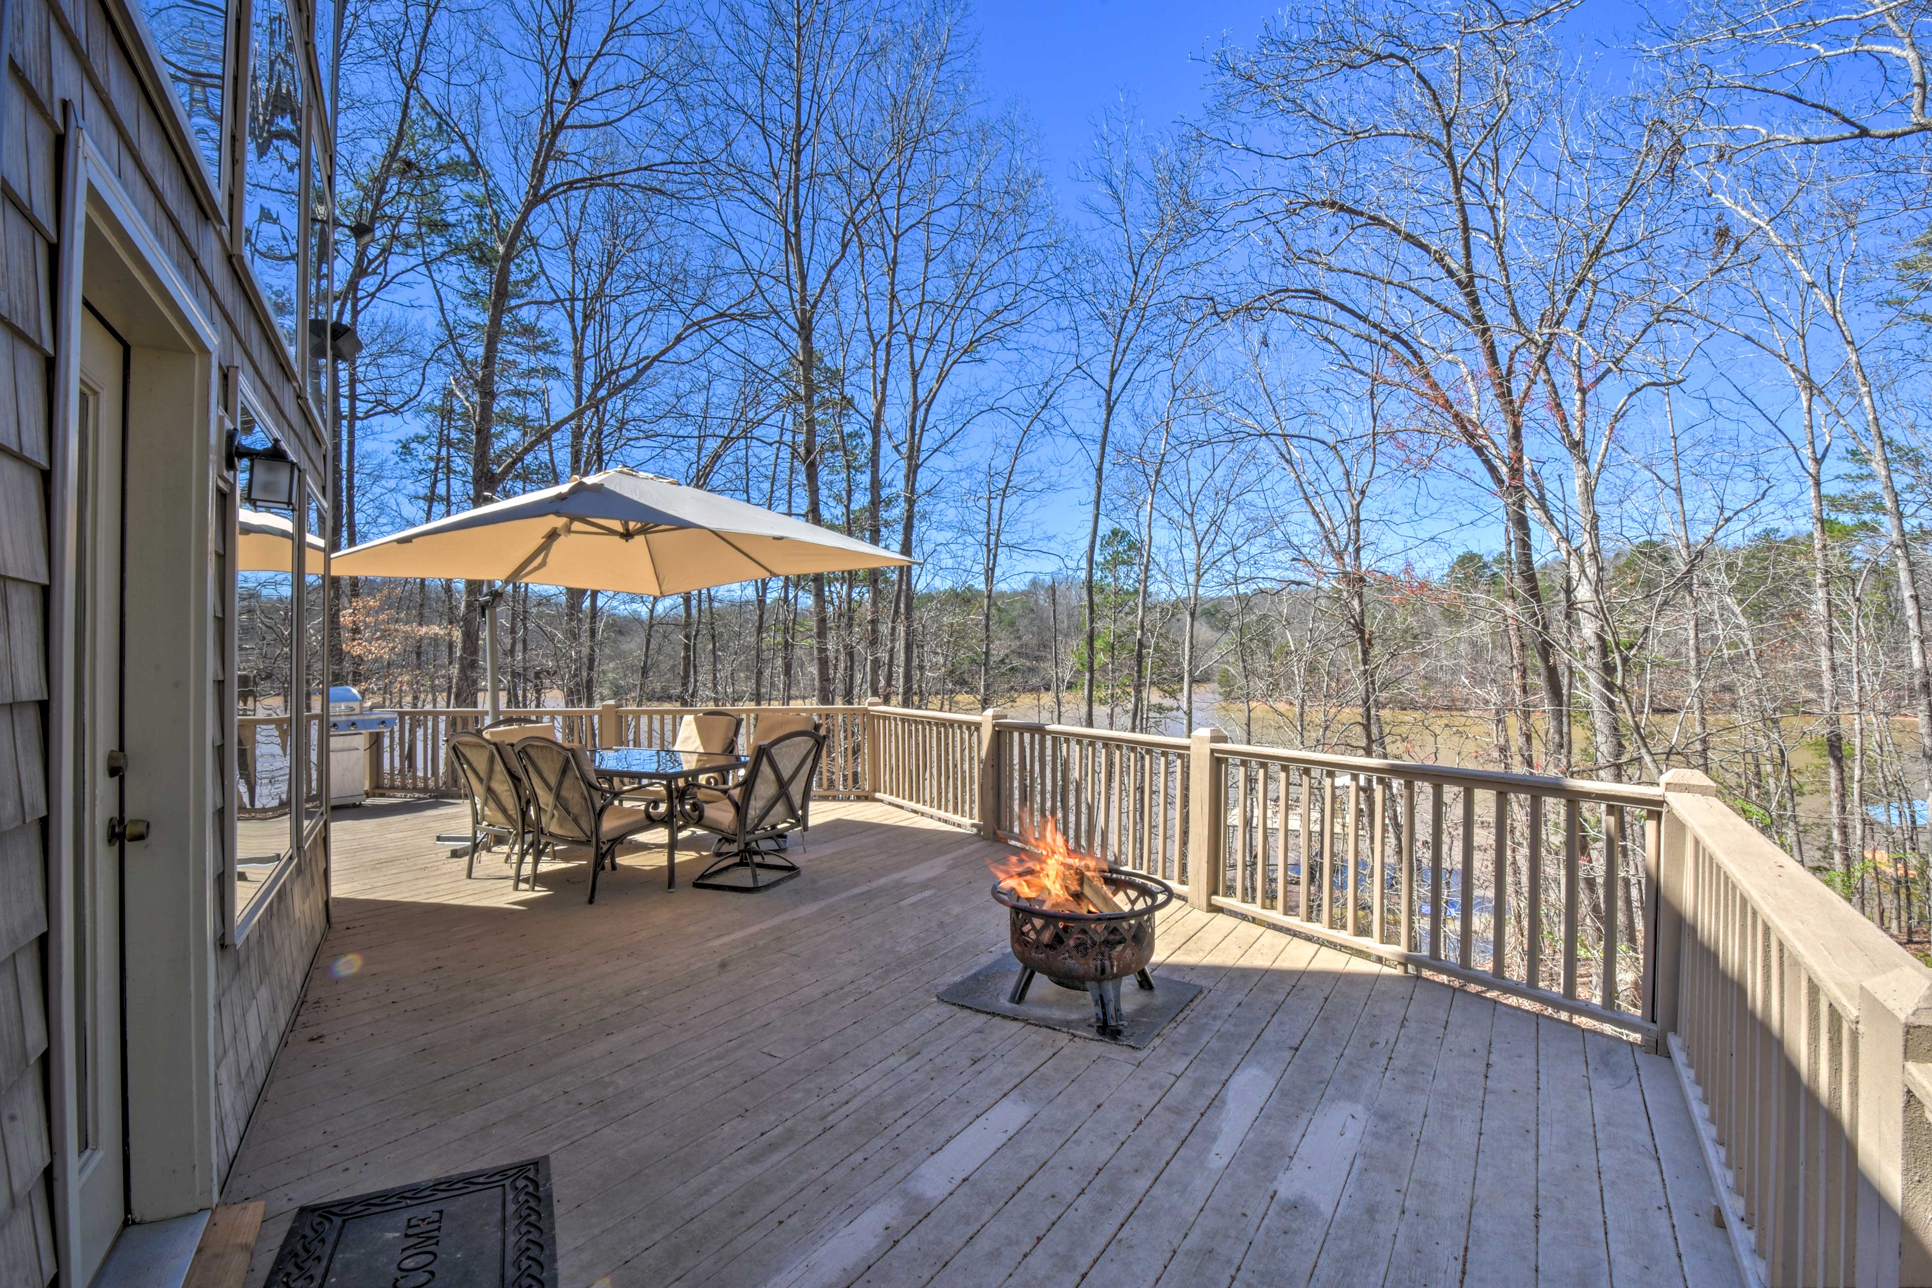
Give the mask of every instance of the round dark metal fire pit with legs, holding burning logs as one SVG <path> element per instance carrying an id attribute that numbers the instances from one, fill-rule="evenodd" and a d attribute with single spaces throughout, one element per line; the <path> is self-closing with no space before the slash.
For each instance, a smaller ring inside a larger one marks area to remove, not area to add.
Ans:
<path id="1" fill-rule="evenodd" d="M 1101 873 L 1121 911 L 1053 911 L 1022 900 L 1005 882 L 993 884 L 993 898 L 1009 911 L 1012 956 L 1020 960 L 1020 979 L 1007 998 L 1026 1000 L 1034 975 L 1045 975 L 1063 989 L 1094 998 L 1094 1031 L 1121 1037 L 1121 981 L 1132 975 L 1142 989 L 1153 989 L 1148 962 L 1153 960 L 1153 913 L 1175 900 L 1175 890 L 1159 877 L 1109 867 Z"/>

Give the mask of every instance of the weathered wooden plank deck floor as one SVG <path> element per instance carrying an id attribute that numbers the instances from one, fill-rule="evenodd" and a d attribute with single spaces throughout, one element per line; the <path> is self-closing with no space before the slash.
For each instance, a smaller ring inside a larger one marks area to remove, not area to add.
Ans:
<path id="1" fill-rule="evenodd" d="M 771 894 L 651 850 L 585 906 L 583 863 L 466 881 L 460 817 L 336 815 L 222 1195 L 269 1205 L 251 1284 L 301 1203 L 531 1155 L 566 1288 L 1739 1282 L 1629 1043 L 1175 908 L 1155 971 L 1208 991 L 1134 1052 L 933 1000 L 1005 950 L 966 832 L 819 805 Z"/>

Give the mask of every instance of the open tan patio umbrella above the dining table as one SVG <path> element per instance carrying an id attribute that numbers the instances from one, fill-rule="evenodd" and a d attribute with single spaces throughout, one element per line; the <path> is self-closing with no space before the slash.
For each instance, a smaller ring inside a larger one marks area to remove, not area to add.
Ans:
<path id="1" fill-rule="evenodd" d="M 477 506 L 334 556 L 338 577 L 469 577 L 682 595 L 732 581 L 910 564 L 875 545 L 634 469 Z M 497 701 L 497 595 L 485 658 Z"/>

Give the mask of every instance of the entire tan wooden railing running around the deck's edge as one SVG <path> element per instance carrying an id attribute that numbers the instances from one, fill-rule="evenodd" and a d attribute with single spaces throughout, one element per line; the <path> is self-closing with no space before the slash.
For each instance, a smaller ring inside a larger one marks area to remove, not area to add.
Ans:
<path id="1" fill-rule="evenodd" d="M 692 711 L 531 714 L 585 743 L 670 745 Z M 1233 745 L 1217 730 L 806 711 L 829 732 L 827 796 L 1020 844 L 1051 821 L 1194 908 L 1669 1050 L 1750 1282 L 1932 1284 L 1932 969 L 1702 774 L 1609 784 Z M 452 786 L 442 743 L 481 713 L 402 716 L 383 786 Z"/>

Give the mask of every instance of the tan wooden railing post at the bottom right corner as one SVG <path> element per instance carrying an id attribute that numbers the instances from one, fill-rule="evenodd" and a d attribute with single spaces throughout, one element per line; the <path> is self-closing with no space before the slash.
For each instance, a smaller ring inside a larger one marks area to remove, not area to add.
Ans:
<path id="1" fill-rule="evenodd" d="M 1917 966 L 1859 994 L 1861 1288 L 1932 1282 L 1932 1124 L 1907 1064 L 1932 1060 L 1932 985 Z"/>

